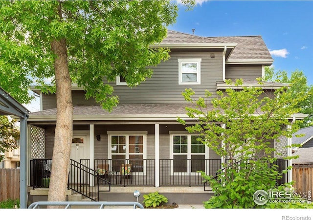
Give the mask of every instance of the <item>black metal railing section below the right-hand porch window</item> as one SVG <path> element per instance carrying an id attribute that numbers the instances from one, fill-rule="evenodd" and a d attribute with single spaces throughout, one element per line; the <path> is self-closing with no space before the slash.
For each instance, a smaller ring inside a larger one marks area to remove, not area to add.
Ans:
<path id="1" fill-rule="evenodd" d="M 198 171 L 215 176 L 221 159 L 160 159 L 160 186 L 202 186 L 204 178 Z"/>

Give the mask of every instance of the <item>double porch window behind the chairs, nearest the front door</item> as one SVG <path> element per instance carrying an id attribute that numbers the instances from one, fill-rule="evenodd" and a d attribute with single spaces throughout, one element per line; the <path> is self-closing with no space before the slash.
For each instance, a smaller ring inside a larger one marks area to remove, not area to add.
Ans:
<path id="1" fill-rule="evenodd" d="M 109 134 L 112 170 L 119 171 L 121 164 L 132 164 L 133 172 L 144 172 L 146 142 L 146 134 Z"/>

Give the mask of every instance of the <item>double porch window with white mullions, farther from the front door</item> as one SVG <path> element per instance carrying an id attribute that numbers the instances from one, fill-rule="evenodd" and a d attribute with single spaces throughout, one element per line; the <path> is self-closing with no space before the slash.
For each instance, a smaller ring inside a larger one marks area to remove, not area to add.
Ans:
<path id="1" fill-rule="evenodd" d="M 171 134 L 173 173 L 196 173 L 205 170 L 206 148 L 196 134 Z"/>

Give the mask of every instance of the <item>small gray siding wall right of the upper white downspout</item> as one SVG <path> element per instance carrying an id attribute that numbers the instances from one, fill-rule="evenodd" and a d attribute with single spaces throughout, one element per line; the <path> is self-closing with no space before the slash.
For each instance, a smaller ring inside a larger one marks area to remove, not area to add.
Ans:
<path id="1" fill-rule="evenodd" d="M 226 65 L 226 79 L 248 79 L 255 80 L 262 77 L 262 65 L 247 66 L 247 65 Z"/>

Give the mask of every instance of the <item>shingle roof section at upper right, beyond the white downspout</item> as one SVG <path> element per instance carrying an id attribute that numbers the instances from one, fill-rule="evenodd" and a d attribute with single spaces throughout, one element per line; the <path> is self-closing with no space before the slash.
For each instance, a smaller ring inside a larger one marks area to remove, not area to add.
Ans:
<path id="1" fill-rule="evenodd" d="M 208 37 L 208 39 L 237 44 L 228 58 L 228 62 L 231 60 L 272 59 L 261 36 Z"/>

